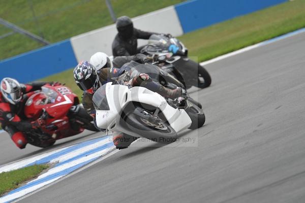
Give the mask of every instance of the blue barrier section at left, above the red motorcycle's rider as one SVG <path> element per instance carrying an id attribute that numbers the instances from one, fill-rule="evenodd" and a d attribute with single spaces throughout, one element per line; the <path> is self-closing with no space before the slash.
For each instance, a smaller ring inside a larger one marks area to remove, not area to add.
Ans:
<path id="1" fill-rule="evenodd" d="M 65 40 L 1 61 L 0 80 L 13 77 L 19 82 L 29 82 L 65 71 L 76 64 L 71 42 Z"/>

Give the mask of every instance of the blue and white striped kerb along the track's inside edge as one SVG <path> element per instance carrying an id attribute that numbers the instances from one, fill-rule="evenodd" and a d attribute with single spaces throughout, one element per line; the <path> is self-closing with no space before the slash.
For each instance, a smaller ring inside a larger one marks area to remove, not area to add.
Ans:
<path id="1" fill-rule="evenodd" d="M 110 136 L 88 140 L 69 147 L 55 150 L 53 152 L 41 154 L 37 157 L 21 160 L 21 164 L 14 162 L 2 167 L 3 170 L 10 171 L 12 168 L 20 165 L 33 165 L 40 163 L 54 163 L 46 173 L 40 175 L 36 179 L 27 182 L 25 185 L 12 190 L 3 197 L 0 197 L 1 202 L 11 202 L 21 196 L 38 190 L 39 188 L 50 184 L 53 181 L 62 179 L 63 177 L 79 170 L 86 164 L 93 162 L 100 157 L 103 157 L 112 152 L 115 147 Z M 47 183 L 47 184 L 45 184 Z"/>

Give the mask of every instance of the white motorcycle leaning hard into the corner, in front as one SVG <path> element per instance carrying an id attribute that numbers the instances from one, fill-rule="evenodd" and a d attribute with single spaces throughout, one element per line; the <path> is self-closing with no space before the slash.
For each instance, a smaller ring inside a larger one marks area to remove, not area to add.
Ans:
<path id="1" fill-rule="evenodd" d="M 144 87 L 109 82 L 94 93 L 93 104 L 98 127 L 156 142 L 172 142 L 178 132 L 205 122 L 201 105 L 192 98 L 165 99 Z"/>

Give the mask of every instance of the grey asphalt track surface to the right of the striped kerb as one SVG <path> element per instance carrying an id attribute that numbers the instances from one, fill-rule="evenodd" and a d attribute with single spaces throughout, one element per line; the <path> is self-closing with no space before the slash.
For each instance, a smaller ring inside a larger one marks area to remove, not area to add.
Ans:
<path id="1" fill-rule="evenodd" d="M 305 34 L 206 68 L 197 146 L 135 143 L 20 202 L 305 202 Z"/>

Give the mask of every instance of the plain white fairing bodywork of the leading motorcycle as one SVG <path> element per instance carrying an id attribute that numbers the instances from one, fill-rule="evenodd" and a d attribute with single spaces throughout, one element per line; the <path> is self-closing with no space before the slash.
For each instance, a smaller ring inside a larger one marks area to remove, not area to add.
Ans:
<path id="1" fill-rule="evenodd" d="M 124 107 L 131 101 L 159 108 L 176 132 L 186 129 L 192 124 L 185 110 L 171 107 L 160 94 L 144 87 L 132 87 L 129 89 L 124 85 L 111 85 L 111 83 L 107 83 L 106 96 L 110 110 L 97 110 L 96 113 L 96 122 L 101 128 L 126 132 L 120 126 L 119 120 Z M 129 134 L 137 135 L 136 132 L 129 132 Z"/>

